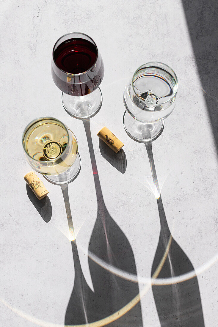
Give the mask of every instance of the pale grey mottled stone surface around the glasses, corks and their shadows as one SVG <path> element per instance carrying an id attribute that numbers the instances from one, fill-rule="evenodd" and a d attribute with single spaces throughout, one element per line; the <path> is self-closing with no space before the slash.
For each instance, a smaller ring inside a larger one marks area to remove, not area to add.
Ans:
<path id="1" fill-rule="evenodd" d="M 0 326 L 64 326 L 74 284 L 61 188 L 44 182 L 52 206 L 46 223 L 23 180 L 31 168 L 22 132 L 36 117 L 60 119 L 78 139 L 82 169 L 68 189 L 81 267 L 93 290 L 87 253 L 97 198 L 88 145 L 82 121 L 64 112 L 50 73 L 53 45 L 71 31 L 90 35 L 104 61 L 103 105 L 90 121 L 93 146 L 105 205 L 129 241 L 141 278 L 151 276 L 160 219 L 146 148 L 122 126 L 122 92 L 143 62 L 164 62 L 177 74 L 177 105 L 153 143 L 154 162 L 169 229 L 197 272 L 205 326 L 217 326 L 218 265 L 211 265 L 218 252 L 216 6 L 179 0 L 1 3 Z M 97 132 L 104 125 L 125 144 L 124 174 L 101 154 Z M 141 292 L 144 287 L 139 283 Z M 191 296 L 187 292 L 187 299 Z M 141 312 L 143 326 L 160 326 L 151 288 L 141 299 Z M 118 321 L 113 326 L 121 326 Z"/>

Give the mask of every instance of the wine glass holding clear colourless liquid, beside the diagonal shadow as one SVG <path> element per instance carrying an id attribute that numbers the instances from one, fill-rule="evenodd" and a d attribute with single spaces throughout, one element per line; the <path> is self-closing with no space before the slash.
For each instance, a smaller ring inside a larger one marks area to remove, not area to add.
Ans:
<path id="1" fill-rule="evenodd" d="M 141 65 L 126 85 L 123 125 L 137 142 L 154 141 L 163 131 L 164 119 L 175 107 L 178 80 L 162 62 Z"/>

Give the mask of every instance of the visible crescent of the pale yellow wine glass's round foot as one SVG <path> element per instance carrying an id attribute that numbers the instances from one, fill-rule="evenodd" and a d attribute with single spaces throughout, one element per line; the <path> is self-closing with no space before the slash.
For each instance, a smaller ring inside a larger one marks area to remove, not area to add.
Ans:
<path id="1" fill-rule="evenodd" d="M 68 170 L 64 171 L 64 173 L 61 173 L 59 175 L 43 175 L 43 176 L 47 181 L 49 181 L 52 184 L 55 185 L 67 184 L 74 181 L 77 178 L 77 176 L 80 173 L 80 169 L 81 169 L 81 159 L 80 159 L 80 154 L 78 153 L 77 158 L 73 163 L 73 165 Z"/>

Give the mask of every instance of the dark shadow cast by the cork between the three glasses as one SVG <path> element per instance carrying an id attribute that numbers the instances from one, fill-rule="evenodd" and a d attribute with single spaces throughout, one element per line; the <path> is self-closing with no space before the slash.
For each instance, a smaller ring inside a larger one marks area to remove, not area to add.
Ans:
<path id="1" fill-rule="evenodd" d="M 115 153 L 109 146 L 107 146 L 101 139 L 99 139 L 99 149 L 102 157 L 114 166 L 120 173 L 124 174 L 126 171 L 126 154 L 123 149 Z"/>

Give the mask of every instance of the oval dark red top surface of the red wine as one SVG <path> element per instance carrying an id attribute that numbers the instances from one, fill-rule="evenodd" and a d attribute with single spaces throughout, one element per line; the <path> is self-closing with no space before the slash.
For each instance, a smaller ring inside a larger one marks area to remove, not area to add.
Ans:
<path id="1" fill-rule="evenodd" d="M 84 39 L 70 39 L 54 51 L 56 65 L 66 73 L 79 74 L 89 70 L 97 58 L 95 45 Z"/>

